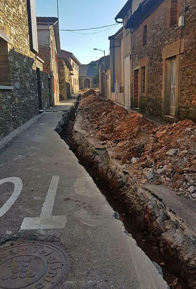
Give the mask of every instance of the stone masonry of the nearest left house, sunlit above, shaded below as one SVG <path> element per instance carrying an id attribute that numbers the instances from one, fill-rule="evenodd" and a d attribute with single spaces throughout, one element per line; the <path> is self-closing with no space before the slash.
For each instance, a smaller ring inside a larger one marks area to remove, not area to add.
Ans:
<path id="1" fill-rule="evenodd" d="M 9 36 L 8 67 L 10 86 L 0 89 L 0 137 L 4 137 L 31 117 L 39 113 L 38 84 L 35 54 L 29 49 L 27 2 L 8 0 L 0 3 L 0 29 Z M 1 53 L 1 51 L 0 51 Z M 39 62 L 40 71 L 42 63 Z M 0 71 L 0 78 L 5 73 Z M 43 108 L 49 106 L 46 75 L 41 73 L 44 83 Z"/>

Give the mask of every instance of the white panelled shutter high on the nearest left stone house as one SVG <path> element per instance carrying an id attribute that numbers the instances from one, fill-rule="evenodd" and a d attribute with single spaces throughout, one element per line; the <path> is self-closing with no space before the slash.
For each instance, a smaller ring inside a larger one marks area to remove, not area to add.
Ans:
<path id="1" fill-rule="evenodd" d="M 38 34 L 37 34 L 35 0 L 27 0 L 27 13 L 29 22 L 30 50 L 36 53 L 38 52 Z"/>

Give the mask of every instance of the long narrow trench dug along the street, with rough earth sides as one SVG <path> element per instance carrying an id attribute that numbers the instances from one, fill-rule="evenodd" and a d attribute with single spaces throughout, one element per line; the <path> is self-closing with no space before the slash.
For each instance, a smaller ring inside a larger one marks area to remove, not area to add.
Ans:
<path id="1" fill-rule="evenodd" d="M 56 130 L 118 212 L 126 231 L 150 260 L 161 266 L 170 288 L 196 288 L 191 233 L 161 199 L 139 187 L 111 158 L 110 151 L 81 128 L 80 109 L 76 118 L 74 112 L 69 117 L 69 122 L 62 118 Z"/>

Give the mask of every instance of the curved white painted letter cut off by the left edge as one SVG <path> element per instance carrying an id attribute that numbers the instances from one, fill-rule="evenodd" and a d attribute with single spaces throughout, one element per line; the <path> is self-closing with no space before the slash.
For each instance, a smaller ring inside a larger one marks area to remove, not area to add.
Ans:
<path id="1" fill-rule="evenodd" d="M 4 183 L 13 183 L 14 184 L 14 192 L 10 196 L 9 200 L 0 208 L 0 217 L 2 217 L 8 210 L 11 208 L 11 206 L 14 204 L 18 196 L 20 195 L 22 189 L 23 189 L 23 182 L 18 177 L 10 177 L 6 179 L 0 180 L 0 185 Z"/>

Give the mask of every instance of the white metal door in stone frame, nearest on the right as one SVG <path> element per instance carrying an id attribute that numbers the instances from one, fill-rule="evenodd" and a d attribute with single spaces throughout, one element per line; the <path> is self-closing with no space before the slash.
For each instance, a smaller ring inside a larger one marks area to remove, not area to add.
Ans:
<path id="1" fill-rule="evenodd" d="M 175 115 L 176 95 L 176 58 L 170 61 L 170 93 L 169 93 L 169 114 Z"/>

